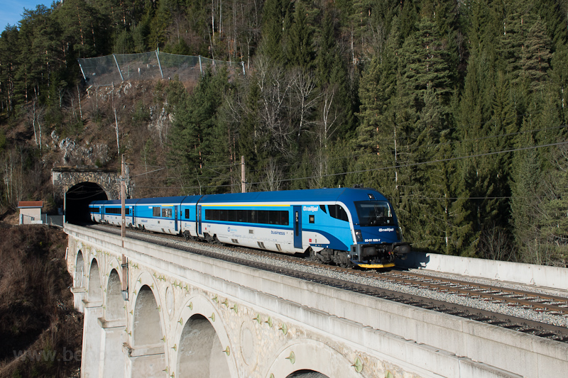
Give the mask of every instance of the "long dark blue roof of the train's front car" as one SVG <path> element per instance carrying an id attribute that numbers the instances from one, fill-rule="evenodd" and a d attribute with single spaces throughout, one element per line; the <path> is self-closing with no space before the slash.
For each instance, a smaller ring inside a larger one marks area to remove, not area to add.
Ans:
<path id="1" fill-rule="evenodd" d="M 329 188 L 284 191 L 253 191 L 251 193 L 209 194 L 200 199 L 200 204 L 222 202 L 329 202 L 368 201 L 368 194 L 375 199 L 386 200 L 383 194 L 368 188 Z"/>

